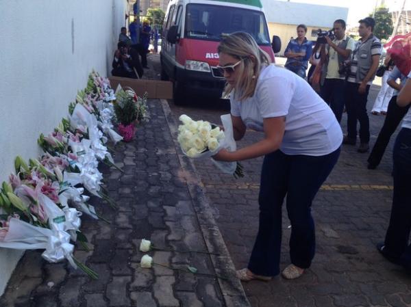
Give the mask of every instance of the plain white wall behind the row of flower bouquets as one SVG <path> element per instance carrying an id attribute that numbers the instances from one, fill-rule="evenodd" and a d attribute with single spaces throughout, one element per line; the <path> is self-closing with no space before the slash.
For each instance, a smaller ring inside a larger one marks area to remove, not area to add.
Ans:
<path id="1" fill-rule="evenodd" d="M 108 74 L 126 3 L 0 0 L 0 181 L 16 155 L 38 157 L 92 68 Z M 0 294 L 20 256 L 0 248 Z"/>

